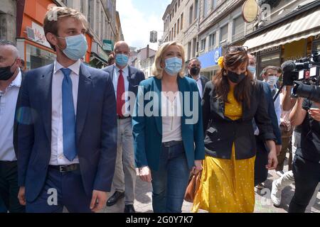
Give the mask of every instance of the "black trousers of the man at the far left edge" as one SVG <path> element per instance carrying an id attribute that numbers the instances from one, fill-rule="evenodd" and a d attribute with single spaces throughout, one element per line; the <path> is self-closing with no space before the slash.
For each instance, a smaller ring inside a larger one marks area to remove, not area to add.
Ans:
<path id="1" fill-rule="evenodd" d="M 18 201 L 18 190 L 17 162 L 0 161 L 0 200 L 2 200 L 2 211 L 9 211 L 10 213 L 25 212 L 25 206 L 21 206 Z"/>

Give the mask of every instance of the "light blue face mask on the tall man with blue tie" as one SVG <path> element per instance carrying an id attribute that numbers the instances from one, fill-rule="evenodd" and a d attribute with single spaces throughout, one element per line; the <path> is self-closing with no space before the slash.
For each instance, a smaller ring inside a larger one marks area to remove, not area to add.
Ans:
<path id="1" fill-rule="evenodd" d="M 63 53 L 71 60 L 76 61 L 85 56 L 87 52 L 87 39 L 85 38 L 85 35 L 73 35 L 62 39 L 64 39 L 67 44 L 67 48 L 63 50 Z"/>

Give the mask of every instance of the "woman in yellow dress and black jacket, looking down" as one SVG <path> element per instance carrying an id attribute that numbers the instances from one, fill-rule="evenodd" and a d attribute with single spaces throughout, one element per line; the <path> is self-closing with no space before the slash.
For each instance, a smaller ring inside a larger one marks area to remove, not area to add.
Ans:
<path id="1" fill-rule="evenodd" d="M 221 70 L 203 94 L 206 159 L 192 211 L 253 212 L 256 148 L 252 120 L 270 150 L 269 170 L 277 166 L 275 136 L 262 84 L 247 70 L 246 49 L 231 47 L 218 63 Z"/>

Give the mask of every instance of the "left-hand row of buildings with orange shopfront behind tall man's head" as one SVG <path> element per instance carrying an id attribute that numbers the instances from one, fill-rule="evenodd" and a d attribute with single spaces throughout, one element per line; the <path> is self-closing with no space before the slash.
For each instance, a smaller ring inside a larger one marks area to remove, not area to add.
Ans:
<path id="1" fill-rule="evenodd" d="M 55 60 L 55 52 L 50 48 L 43 31 L 43 19 L 53 4 L 77 9 L 85 15 L 89 28 L 85 34 L 88 48 L 84 61 L 92 67 L 107 65 L 114 42 L 123 39 L 115 0 L 1 1 L 0 38 L 16 42 L 26 69 L 48 65 Z"/>

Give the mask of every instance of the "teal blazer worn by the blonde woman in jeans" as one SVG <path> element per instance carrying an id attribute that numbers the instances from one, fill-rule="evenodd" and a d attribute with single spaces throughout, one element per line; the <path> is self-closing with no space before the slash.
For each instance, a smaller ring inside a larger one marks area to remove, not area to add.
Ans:
<path id="1" fill-rule="evenodd" d="M 194 160 L 203 160 L 205 157 L 201 98 L 198 94 L 198 87 L 194 79 L 178 77 L 178 89 L 183 94 L 181 100 L 183 104 L 185 104 L 184 99 L 186 96 L 191 100 L 186 101 L 188 102 L 187 111 L 191 110 L 193 114 L 198 112 L 198 118 L 191 120 L 193 116 L 186 113 L 185 106 L 182 105 L 181 133 L 188 167 L 191 168 L 194 165 Z M 154 97 L 151 94 L 152 92 L 155 92 L 159 97 L 158 104 L 154 101 Z M 185 92 L 190 93 L 185 94 Z M 198 99 L 198 104 L 193 104 L 193 92 L 197 92 L 196 99 Z M 145 114 L 144 116 L 139 115 L 141 114 L 139 113 L 139 109 L 144 109 L 146 104 L 154 104 L 154 109 L 152 110 L 156 113 L 154 115 L 157 116 L 147 117 Z M 190 108 L 188 108 L 189 104 Z M 192 123 L 187 124 L 186 120 L 192 121 Z M 151 170 L 158 170 L 162 142 L 161 79 L 151 77 L 140 83 L 134 116 L 132 117 L 132 126 L 136 166 L 149 166 Z"/>

